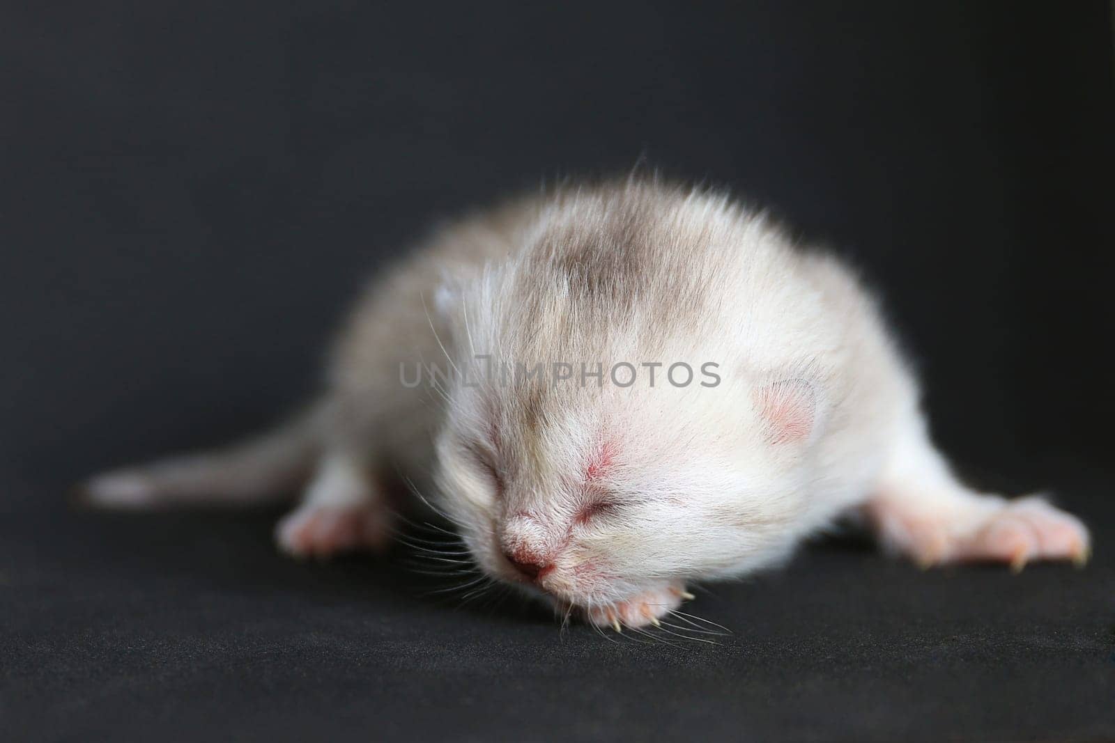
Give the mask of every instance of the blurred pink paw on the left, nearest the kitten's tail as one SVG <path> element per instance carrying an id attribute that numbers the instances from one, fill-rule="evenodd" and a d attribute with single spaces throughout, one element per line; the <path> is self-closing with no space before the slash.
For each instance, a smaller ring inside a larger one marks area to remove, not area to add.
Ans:
<path id="1" fill-rule="evenodd" d="M 331 557 L 380 550 L 390 540 L 390 519 L 380 506 L 307 504 L 275 527 L 279 548 L 293 557 Z"/>

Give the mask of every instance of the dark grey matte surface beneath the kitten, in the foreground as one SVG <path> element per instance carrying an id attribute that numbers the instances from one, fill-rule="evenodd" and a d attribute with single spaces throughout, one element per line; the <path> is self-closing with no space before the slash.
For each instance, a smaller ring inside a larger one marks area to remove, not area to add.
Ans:
<path id="1" fill-rule="evenodd" d="M 299 564 L 270 515 L 76 515 L 28 487 L 0 520 L 0 715 L 8 740 L 1112 740 L 1113 478 L 1061 480 L 1096 528 L 1084 570 L 830 540 L 699 590 L 715 646 L 462 604 L 401 550 Z"/>

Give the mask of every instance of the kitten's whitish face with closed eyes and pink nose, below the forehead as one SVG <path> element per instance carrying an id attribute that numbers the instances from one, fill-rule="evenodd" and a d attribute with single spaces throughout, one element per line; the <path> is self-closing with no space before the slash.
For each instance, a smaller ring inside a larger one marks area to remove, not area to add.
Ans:
<path id="1" fill-rule="evenodd" d="M 561 606 L 776 560 L 801 508 L 787 451 L 808 420 L 792 395 L 764 402 L 735 382 L 453 385 L 445 509 L 488 576 Z"/>

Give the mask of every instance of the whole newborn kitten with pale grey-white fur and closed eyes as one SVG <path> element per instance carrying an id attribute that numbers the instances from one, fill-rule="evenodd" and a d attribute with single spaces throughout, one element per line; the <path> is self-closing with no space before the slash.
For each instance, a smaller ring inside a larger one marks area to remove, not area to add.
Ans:
<path id="1" fill-rule="evenodd" d="M 442 231 L 368 289 L 303 416 L 86 493 L 249 501 L 309 475 L 277 538 L 324 556 L 388 542 L 398 472 L 434 473 L 484 574 L 617 629 L 849 512 L 922 566 L 1088 555 L 1068 514 L 957 480 L 846 267 L 657 182 L 561 188 Z"/>

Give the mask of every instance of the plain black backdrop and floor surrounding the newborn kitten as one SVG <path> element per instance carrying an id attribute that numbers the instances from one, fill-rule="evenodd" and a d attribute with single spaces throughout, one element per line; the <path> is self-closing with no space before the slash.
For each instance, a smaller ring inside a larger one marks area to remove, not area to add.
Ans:
<path id="1" fill-rule="evenodd" d="M 8 3 L 0 11 L 0 715 L 483 740 L 1115 736 L 1103 2 Z M 918 574 L 846 542 L 714 587 L 720 647 L 613 645 L 283 561 L 273 515 L 66 509 L 318 384 L 439 217 L 636 164 L 859 264 L 942 446 L 1053 486 L 1089 570 Z"/>

